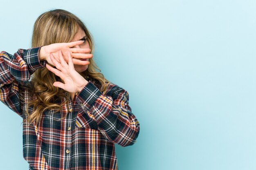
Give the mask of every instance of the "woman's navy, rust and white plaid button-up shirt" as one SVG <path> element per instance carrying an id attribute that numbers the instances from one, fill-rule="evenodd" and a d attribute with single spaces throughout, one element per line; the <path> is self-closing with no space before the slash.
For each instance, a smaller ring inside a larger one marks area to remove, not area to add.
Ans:
<path id="1" fill-rule="evenodd" d="M 34 71 L 47 63 L 40 62 L 39 50 L 36 47 L 19 49 L 14 55 L 0 53 L 0 100 L 22 119 L 29 96 L 25 91 L 20 100 L 20 85 L 29 82 Z M 135 144 L 139 122 L 128 105 L 128 92 L 112 83 L 106 85 L 102 93 L 89 80 L 60 113 L 45 111 L 38 126 L 23 123 L 23 157 L 30 170 L 118 169 L 115 143 Z M 63 115 L 65 119 L 58 120 Z"/>

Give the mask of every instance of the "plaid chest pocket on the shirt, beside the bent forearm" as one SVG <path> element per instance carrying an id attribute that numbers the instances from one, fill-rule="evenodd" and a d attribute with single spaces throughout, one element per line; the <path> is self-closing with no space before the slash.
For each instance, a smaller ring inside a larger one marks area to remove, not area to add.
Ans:
<path id="1" fill-rule="evenodd" d="M 90 128 L 98 130 L 98 125 L 94 120 L 93 115 L 90 114 L 90 111 L 84 111 L 83 109 L 79 110 L 76 115 L 76 128 Z"/>

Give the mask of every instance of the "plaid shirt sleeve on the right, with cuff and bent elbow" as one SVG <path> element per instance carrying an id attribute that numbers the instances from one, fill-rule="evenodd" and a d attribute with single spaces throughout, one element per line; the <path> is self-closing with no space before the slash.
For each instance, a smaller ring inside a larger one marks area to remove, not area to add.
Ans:
<path id="1" fill-rule="evenodd" d="M 107 139 L 120 146 L 133 145 L 139 135 L 139 121 L 128 105 L 129 94 L 117 85 L 110 88 L 103 95 L 89 81 L 76 98 L 85 112 L 90 111 L 90 117 Z"/>

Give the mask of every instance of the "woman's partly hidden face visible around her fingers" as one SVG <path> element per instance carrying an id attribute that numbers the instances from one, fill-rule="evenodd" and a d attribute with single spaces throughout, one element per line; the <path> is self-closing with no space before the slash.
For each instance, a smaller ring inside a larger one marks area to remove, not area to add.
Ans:
<path id="1" fill-rule="evenodd" d="M 74 46 L 74 48 L 83 48 L 83 49 L 90 49 L 89 42 L 87 41 L 87 37 L 85 35 L 85 31 L 83 31 L 80 27 L 78 29 L 78 32 L 75 34 L 74 38 L 71 40 L 71 42 L 78 41 L 78 40 L 85 40 L 85 42 L 81 45 Z M 89 53 L 86 53 L 89 54 Z M 82 59 L 79 59 L 82 60 Z M 89 61 L 89 59 L 83 59 L 86 61 Z M 85 71 L 88 68 L 88 65 L 76 65 L 74 64 L 74 68 L 77 71 L 77 73 L 81 73 Z"/>

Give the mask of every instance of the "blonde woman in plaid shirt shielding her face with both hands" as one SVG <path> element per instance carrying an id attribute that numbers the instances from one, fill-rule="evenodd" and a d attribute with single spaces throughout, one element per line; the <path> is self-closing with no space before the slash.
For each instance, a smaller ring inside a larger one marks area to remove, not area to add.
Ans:
<path id="1" fill-rule="evenodd" d="M 115 143 L 134 144 L 139 122 L 128 92 L 99 73 L 88 29 L 68 11 L 48 11 L 32 47 L 0 55 L 0 99 L 23 118 L 29 169 L 117 170 Z"/>

